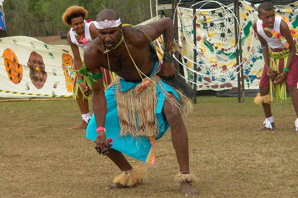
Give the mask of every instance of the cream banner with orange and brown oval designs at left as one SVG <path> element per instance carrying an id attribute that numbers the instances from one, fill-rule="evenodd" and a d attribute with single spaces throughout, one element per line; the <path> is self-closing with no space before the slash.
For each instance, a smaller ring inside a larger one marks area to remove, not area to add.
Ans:
<path id="1" fill-rule="evenodd" d="M 0 39 L 0 52 L 0 97 L 72 95 L 75 73 L 70 46 L 46 45 L 25 36 L 5 37 Z"/>

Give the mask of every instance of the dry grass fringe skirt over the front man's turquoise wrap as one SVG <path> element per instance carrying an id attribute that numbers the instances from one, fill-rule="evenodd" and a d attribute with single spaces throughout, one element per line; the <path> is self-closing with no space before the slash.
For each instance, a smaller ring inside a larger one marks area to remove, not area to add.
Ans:
<path id="1" fill-rule="evenodd" d="M 193 109 L 190 100 L 183 95 L 181 90 L 174 89 L 178 95 L 181 104 L 179 104 L 176 98 L 172 98 L 170 94 L 162 87 L 159 82 L 161 78 L 157 75 L 153 75 L 151 80 L 154 83 L 150 83 L 148 87 L 143 89 L 139 94 L 134 90 L 134 87 L 126 92 L 121 91 L 121 85 L 119 84 L 119 77 L 110 84 L 109 87 L 118 84 L 116 91 L 116 101 L 118 109 L 118 117 L 120 124 L 120 136 L 130 135 L 138 138 L 139 136 L 158 136 L 159 127 L 156 118 L 156 105 L 157 105 L 157 92 L 156 84 L 162 89 L 165 99 L 168 100 L 173 107 L 179 108 L 181 115 L 186 117 Z"/>

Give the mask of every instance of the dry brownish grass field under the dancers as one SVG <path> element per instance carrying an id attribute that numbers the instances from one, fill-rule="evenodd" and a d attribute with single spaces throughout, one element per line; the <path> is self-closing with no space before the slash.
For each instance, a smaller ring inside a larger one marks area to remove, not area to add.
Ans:
<path id="1" fill-rule="evenodd" d="M 255 132 L 265 119 L 253 98 L 197 101 L 186 125 L 198 197 L 298 197 L 291 98 L 272 104 L 278 130 L 266 132 Z M 182 197 L 170 130 L 156 142 L 156 166 L 141 186 L 104 190 L 120 171 L 85 130 L 68 129 L 81 122 L 75 101 L 0 102 L 0 120 L 0 197 Z"/>

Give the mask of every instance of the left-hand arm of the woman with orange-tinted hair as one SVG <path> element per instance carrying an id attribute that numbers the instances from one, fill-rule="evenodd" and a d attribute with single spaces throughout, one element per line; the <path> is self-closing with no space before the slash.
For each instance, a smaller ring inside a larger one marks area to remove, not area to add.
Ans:
<path id="1" fill-rule="evenodd" d="M 72 43 L 69 32 L 67 34 L 67 41 L 68 41 L 70 47 L 72 48 L 72 54 L 74 55 L 75 70 L 79 70 L 82 67 L 82 59 L 80 56 L 79 47 L 77 45 L 75 45 L 74 43 Z M 82 80 L 82 76 L 79 73 L 77 73 L 77 81 L 78 80 Z M 86 85 L 84 82 L 80 82 L 79 84 L 80 84 L 80 87 L 83 90 L 83 92 L 87 91 L 87 88 L 86 88 Z"/>

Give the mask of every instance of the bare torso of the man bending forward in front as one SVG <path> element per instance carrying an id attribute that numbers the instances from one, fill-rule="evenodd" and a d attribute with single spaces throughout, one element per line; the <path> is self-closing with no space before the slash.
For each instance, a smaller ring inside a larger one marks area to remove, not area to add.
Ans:
<path id="1" fill-rule="evenodd" d="M 140 39 L 143 38 L 140 37 L 140 34 L 143 33 L 136 28 L 129 27 L 122 27 L 122 31 L 129 53 L 134 59 L 134 63 L 142 73 L 148 76 L 152 72 L 155 62 L 150 59 L 149 45 L 144 44 L 144 41 Z M 99 38 L 96 38 L 84 53 L 91 55 L 89 57 L 92 57 L 94 64 L 115 72 L 117 76 L 127 81 L 139 82 L 142 78 L 131 60 L 128 50 L 123 41 L 118 48 L 103 54 L 106 49 L 103 47 Z"/>

